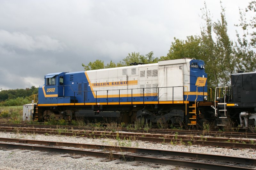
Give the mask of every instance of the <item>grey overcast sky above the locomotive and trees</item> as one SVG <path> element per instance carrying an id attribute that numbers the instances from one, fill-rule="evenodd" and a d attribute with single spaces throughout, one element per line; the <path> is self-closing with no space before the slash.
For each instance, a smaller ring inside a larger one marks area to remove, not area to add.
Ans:
<path id="1" fill-rule="evenodd" d="M 239 7 L 223 0 L 236 39 Z M 219 0 L 207 0 L 213 21 Z M 96 59 L 119 62 L 133 51 L 166 56 L 173 38 L 200 35 L 203 0 L 0 0 L 0 89 L 44 84 L 44 75 L 82 71 Z"/>

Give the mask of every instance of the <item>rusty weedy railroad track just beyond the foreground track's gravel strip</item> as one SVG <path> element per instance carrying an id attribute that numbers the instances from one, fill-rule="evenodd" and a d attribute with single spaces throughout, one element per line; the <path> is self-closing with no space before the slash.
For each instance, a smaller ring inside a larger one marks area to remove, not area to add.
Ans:
<path id="1" fill-rule="evenodd" d="M 175 136 L 175 135 L 165 135 L 164 137 L 159 137 L 159 135 L 154 136 L 150 134 L 145 137 L 145 134 L 132 134 L 132 133 L 104 133 L 104 132 L 94 132 L 81 133 L 79 131 L 73 132 L 56 132 L 54 129 L 34 129 L 34 128 L 13 128 L 13 127 L 0 127 L 2 132 L 12 132 L 12 133 L 29 133 L 29 134 L 44 134 L 44 135 L 64 135 L 64 136 L 77 136 L 77 137 L 89 137 L 89 138 L 111 138 L 126 140 L 141 140 L 149 142 L 158 143 L 170 143 L 170 144 L 198 144 L 202 146 L 217 146 L 217 147 L 228 147 L 228 148 L 252 148 L 256 149 L 256 141 L 250 140 L 240 140 L 240 139 L 228 139 L 228 138 L 201 138 L 201 137 L 187 137 L 187 136 Z M 168 137 L 168 138 L 167 138 Z M 253 144 L 252 144 L 253 143 Z"/>

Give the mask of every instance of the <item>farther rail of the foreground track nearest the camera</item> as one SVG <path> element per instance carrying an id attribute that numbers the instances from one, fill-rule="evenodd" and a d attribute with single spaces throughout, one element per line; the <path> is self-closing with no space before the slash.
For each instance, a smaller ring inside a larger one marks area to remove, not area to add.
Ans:
<path id="1" fill-rule="evenodd" d="M 67 143 L 67 142 L 54 142 L 54 141 L 38 141 L 38 140 L 24 140 L 24 139 L 14 139 L 14 138 L 0 138 L 2 142 L 15 142 L 23 144 L 43 144 L 43 145 L 53 145 L 53 146 L 67 146 L 76 148 L 87 148 L 87 149 L 106 149 L 106 150 L 116 150 L 119 152 L 133 152 L 133 153 L 147 153 L 147 154 L 161 154 L 166 156 L 193 158 L 193 159 L 206 159 L 223 161 L 236 164 L 248 164 L 256 165 L 256 159 L 251 158 L 237 158 L 233 156 L 220 156 L 213 154 L 203 154 L 203 153 L 193 153 L 193 152 L 178 152 L 178 151 L 167 151 L 158 149 L 145 149 L 145 148 L 132 148 L 132 147 L 115 147 L 108 145 L 96 145 L 96 144 L 78 144 L 78 143 Z"/>

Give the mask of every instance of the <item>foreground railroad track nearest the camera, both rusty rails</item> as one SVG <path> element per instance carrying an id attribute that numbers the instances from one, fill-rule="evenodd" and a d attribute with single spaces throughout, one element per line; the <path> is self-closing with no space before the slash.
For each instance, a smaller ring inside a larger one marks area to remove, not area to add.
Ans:
<path id="1" fill-rule="evenodd" d="M 164 165 L 172 165 L 172 166 L 196 168 L 196 169 L 219 169 L 219 168 L 223 170 L 252 169 L 252 167 L 256 165 L 256 159 L 237 158 L 237 157 L 230 157 L 230 156 L 220 156 L 220 155 L 191 153 L 191 152 L 174 152 L 174 151 L 144 149 L 144 148 L 114 147 L 114 146 L 105 146 L 105 145 L 62 143 L 62 142 L 36 141 L 36 140 L 24 140 L 24 139 L 13 139 L 13 138 L 0 138 L 0 141 L 2 141 L 0 142 L 0 147 L 2 147 L 1 149 L 15 148 L 15 149 L 26 149 L 26 150 L 33 150 L 33 151 L 36 150 L 36 151 L 44 151 L 44 152 L 78 154 L 78 155 L 86 155 L 86 156 L 93 156 L 93 157 L 100 157 L 100 158 L 106 158 L 106 157 L 110 158 L 109 157 L 110 152 L 108 151 L 111 151 L 114 149 L 116 152 L 120 152 L 120 151 L 131 152 L 131 154 L 111 152 L 111 159 L 150 162 L 155 164 L 164 164 Z M 3 142 L 9 142 L 9 143 L 3 143 Z M 10 142 L 21 143 L 21 144 L 10 144 Z M 43 144 L 43 145 L 51 145 L 55 147 L 48 147 L 48 146 L 46 147 L 46 146 L 28 145 L 28 144 Z M 93 149 L 94 151 L 81 150 L 81 149 L 65 149 L 65 148 L 60 148 L 60 146 Z M 95 151 L 95 149 L 99 151 Z M 143 156 L 141 156 L 141 153 L 143 153 Z M 161 157 L 167 157 L 167 158 L 161 158 Z M 182 160 L 184 158 L 188 158 L 188 160 Z M 202 162 L 205 160 L 207 160 L 208 163 Z M 196 161 L 199 161 L 199 162 L 196 162 Z M 223 165 L 227 163 L 229 164 L 231 163 L 234 165 L 232 166 Z"/>

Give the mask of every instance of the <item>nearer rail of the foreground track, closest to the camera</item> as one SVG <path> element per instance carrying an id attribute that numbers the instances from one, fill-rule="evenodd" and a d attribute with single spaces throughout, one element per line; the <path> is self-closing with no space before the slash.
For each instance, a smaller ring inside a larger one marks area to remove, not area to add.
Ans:
<path id="1" fill-rule="evenodd" d="M 15 148 L 15 149 L 26 149 L 32 151 L 44 151 L 44 152 L 57 152 L 57 153 L 70 153 L 70 154 L 79 154 L 93 157 L 106 158 L 106 152 L 95 152 L 95 151 L 84 151 L 84 150 L 76 150 L 76 149 L 64 149 L 64 148 L 54 148 L 54 147 L 45 147 L 45 146 L 35 146 L 35 145 L 20 145 L 20 144 L 6 144 L 0 143 L 1 147 L 6 148 Z M 199 163 L 194 161 L 183 161 L 183 160 L 175 160 L 175 159 L 161 159 L 154 157 L 145 157 L 145 156 L 135 156 L 135 155 L 125 155 L 125 154 L 112 154 L 113 159 L 124 159 L 126 161 L 141 161 L 141 162 L 150 162 L 156 164 L 164 164 L 164 165 L 172 165 L 179 167 L 188 167 L 188 168 L 196 168 L 196 169 L 216 169 L 216 170 L 234 170 L 234 169 L 244 169 L 251 170 L 252 168 L 244 168 L 237 166 L 227 166 L 227 165 L 217 165 L 217 164 L 209 164 L 209 163 Z"/>

